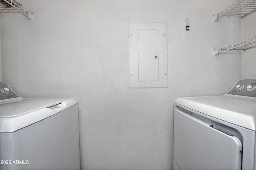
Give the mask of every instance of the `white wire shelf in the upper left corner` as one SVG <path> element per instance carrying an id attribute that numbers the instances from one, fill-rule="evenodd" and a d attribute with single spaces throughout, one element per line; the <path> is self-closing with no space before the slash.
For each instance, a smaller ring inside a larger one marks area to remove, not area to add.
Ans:
<path id="1" fill-rule="evenodd" d="M 33 13 L 27 12 L 21 6 L 22 4 L 15 0 L 0 0 L 0 13 L 20 13 L 32 20 Z"/>

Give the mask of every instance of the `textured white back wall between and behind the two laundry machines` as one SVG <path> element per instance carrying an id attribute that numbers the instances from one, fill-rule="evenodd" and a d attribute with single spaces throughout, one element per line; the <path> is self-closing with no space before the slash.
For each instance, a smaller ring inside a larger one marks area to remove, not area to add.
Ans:
<path id="1" fill-rule="evenodd" d="M 171 169 L 173 102 L 226 93 L 240 19 L 212 21 L 233 0 L 23 0 L 1 14 L 2 79 L 25 98 L 76 98 L 84 169 Z M 189 18 L 191 31 L 184 30 Z M 168 25 L 168 88 L 129 89 L 128 22 Z"/>

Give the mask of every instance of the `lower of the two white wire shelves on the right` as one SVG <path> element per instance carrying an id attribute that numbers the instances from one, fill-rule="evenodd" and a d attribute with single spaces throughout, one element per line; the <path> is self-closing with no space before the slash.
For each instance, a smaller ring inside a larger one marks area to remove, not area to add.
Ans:
<path id="1" fill-rule="evenodd" d="M 256 36 L 246 39 L 244 41 L 239 41 L 237 43 L 228 45 L 226 47 L 220 48 L 220 49 L 213 49 L 214 55 L 218 55 L 221 53 L 225 53 L 225 51 L 230 51 L 230 50 L 246 50 L 256 47 Z"/>

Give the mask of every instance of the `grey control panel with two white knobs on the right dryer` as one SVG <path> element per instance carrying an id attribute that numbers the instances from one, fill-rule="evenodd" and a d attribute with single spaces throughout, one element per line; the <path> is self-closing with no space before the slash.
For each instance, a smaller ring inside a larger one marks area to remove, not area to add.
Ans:
<path id="1" fill-rule="evenodd" d="M 238 80 L 227 94 L 256 97 L 256 79 Z"/>

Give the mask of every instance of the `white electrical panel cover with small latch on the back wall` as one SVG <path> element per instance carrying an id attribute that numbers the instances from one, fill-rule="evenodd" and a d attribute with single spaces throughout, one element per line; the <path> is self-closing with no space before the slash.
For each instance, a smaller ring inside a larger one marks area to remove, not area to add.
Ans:
<path id="1" fill-rule="evenodd" d="M 129 23 L 130 88 L 167 88 L 167 24 Z"/>

